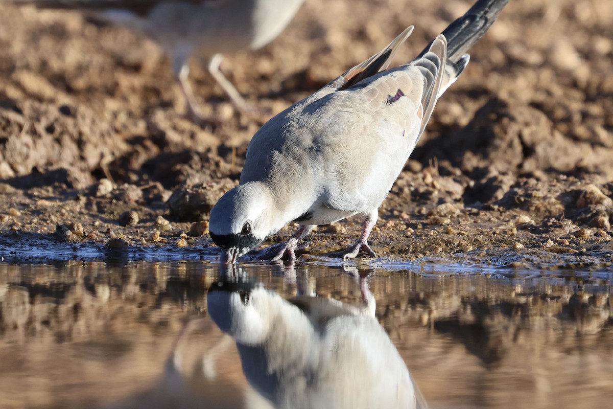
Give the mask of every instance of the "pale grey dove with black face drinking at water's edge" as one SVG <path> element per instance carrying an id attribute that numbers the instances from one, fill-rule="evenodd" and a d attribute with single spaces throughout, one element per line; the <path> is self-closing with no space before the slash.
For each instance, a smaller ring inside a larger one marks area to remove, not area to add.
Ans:
<path id="1" fill-rule="evenodd" d="M 388 69 L 409 37 L 405 29 L 381 52 L 279 113 L 249 142 L 238 186 L 209 217 L 221 262 L 261 244 L 292 221 L 299 229 L 262 259 L 295 259 L 314 225 L 349 216 L 364 220 L 359 239 L 329 254 L 376 257 L 368 236 L 406 160 L 419 141 L 438 97 L 463 72 L 466 52 L 509 0 L 478 0 L 413 61 Z"/>

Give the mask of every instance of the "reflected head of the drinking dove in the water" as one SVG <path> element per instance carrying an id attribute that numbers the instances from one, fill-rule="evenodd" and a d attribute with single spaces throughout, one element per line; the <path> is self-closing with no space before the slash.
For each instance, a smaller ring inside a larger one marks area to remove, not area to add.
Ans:
<path id="1" fill-rule="evenodd" d="M 208 289 L 208 313 L 237 342 L 259 345 L 270 334 L 274 297 L 278 296 L 257 283 L 219 281 Z"/>

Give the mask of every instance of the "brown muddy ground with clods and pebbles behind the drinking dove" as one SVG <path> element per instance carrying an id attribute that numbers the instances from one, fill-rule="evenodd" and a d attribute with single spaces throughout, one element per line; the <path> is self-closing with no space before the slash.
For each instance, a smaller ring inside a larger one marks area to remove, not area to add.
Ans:
<path id="1" fill-rule="evenodd" d="M 271 44 L 222 65 L 267 114 L 234 112 L 192 59 L 201 104 L 224 118 L 203 128 L 181 117 L 169 61 L 150 40 L 78 12 L 0 6 L 2 252 L 40 242 L 210 247 L 208 210 L 237 183 L 249 139 L 273 113 L 414 24 L 397 62 L 410 59 L 468 7 L 307 0 Z M 381 208 L 373 249 L 610 269 L 612 72 L 612 2 L 512 1 L 438 102 Z M 359 229 L 319 227 L 308 253 L 339 250 Z"/>

